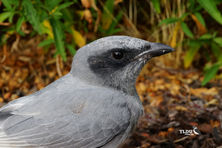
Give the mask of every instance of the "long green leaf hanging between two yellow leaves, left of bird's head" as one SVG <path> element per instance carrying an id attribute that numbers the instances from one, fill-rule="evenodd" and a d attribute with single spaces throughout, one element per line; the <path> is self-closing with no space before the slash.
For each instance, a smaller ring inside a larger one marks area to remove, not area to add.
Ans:
<path id="1" fill-rule="evenodd" d="M 50 19 L 50 24 L 53 30 L 56 49 L 61 55 L 62 59 L 66 61 L 66 52 L 64 48 L 64 32 L 62 30 L 61 24 L 59 20 L 55 18 Z"/>

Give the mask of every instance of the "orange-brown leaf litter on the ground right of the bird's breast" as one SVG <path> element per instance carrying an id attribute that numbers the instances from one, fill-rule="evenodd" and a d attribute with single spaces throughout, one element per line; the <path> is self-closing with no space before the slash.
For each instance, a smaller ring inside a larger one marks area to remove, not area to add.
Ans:
<path id="1" fill-rule="evenodd" d="M 222 81 L 202 87 L 202 79 L 198 70 L 147 64 L 136 83 L 145 115 L 124 147 L 221 146 Z M 194 127 L 199 135 L 180 133 Z"/>

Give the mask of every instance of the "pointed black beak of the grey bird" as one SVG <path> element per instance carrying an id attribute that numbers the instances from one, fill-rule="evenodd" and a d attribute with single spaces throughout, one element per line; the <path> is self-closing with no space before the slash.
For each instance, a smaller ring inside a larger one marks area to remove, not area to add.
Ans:
<path id="1" fill-rule="evenodd" d="M 161 56 L 174 51 L 170 46 L 161 43 L 150 43 L 149 49 L 145 49 L 142 53 L 137 55 L 134 59 L 139 59 L 141 57 L 146 59 L 151 59 L 153 57 Z"/>

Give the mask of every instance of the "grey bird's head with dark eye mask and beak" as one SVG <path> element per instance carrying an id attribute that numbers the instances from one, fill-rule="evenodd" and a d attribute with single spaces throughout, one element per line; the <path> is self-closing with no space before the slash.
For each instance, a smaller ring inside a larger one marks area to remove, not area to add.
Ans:
<path id="1" fill-rule="evenodd" d="M 136 95 L 135 82 L 143 66 L 153 57 L 173 48 L 128 36 L 109 36 L 79 49 L 71 73 L 89 84 L 110 87 Z"/>

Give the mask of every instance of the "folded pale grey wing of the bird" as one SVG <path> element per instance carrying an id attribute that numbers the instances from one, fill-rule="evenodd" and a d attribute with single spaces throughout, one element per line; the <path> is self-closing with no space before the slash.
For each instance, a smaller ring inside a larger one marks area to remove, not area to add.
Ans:
<path id="1" fill-rule="evenodd" d="M 70 102 L 60 102 L 61 108 L 55 109 L 54 113 L 53 110 L 39 108 L 42 110 L 40 114 L 29 110 L 23 111 L 23 115 L 10 110 L 9 105 L 6 110 L 0 111 L 0 147 L 93 148 L 121 138 L 119 135 L 123 135 L 130 124 L 127 104 L 116 102 L 119 98 L 112 94 L 96 94 L 78 91 L 71 96 L 78 99 L 81 96 L 82 101 L 71 101 L 68 97 Z M 11 105 L 16 103 L 19 101 Z"/>

